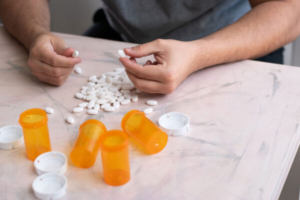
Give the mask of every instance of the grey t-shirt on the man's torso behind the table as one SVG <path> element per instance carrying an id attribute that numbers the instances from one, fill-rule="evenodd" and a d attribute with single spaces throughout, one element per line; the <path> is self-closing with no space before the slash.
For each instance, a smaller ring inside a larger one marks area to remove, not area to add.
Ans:
<path id="1" fill-rule="evenodd" d="M 102 0 L 109 24 L 125 41 L 189 41 L 236 21 L 248 0 Z"/>

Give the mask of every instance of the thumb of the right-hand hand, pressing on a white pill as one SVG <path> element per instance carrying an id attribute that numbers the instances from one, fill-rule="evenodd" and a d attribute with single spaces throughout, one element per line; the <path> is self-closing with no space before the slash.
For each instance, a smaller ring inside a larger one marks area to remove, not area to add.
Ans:
<path id="1" fill-rule="evenodd" d="M 124 52 L 130 57 L 143 57 L 153 53 L 157 53 L 160 52 L 159 47 L 161 45 L 161 40 L 162 39 L 156 39 L 154 41 L 139 44 L 131 48 L 124 48 Z"/>

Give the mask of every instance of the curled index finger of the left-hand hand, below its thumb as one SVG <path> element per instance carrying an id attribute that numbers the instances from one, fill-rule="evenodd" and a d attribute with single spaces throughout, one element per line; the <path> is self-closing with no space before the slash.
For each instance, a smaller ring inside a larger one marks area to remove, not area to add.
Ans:
<path id="1" fill-rule="evenodd" d="M 73 67 L 75 64 L 81 62 L 81 59 L 79 57 L 66 57 L 63 55 L 59 55 L 55 51 L 50 49 L 41 51 L 39 59 L 52 66 L 60 67 Z"/>

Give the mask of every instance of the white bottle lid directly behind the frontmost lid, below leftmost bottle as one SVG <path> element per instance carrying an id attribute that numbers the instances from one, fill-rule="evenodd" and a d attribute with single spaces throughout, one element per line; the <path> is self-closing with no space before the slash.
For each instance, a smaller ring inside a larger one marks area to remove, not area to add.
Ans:
<path id="1" fill-rule="evenodd" d="M 48 151 L 35 158 L 34 167 L 38 175 L 47 172 L 63 174 L 67 169 L 67 158 L 61 152 Z"/>

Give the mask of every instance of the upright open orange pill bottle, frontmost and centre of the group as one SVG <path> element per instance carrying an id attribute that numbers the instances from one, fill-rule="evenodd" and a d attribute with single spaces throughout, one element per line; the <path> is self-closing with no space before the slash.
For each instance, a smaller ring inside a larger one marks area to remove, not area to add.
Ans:
<path id="1" fill-rule="evenodd" d="M 100 136 L 104 181 L 122 185 L 130 179 L 128 136 L 121 130 L 109 130 Z"/>

